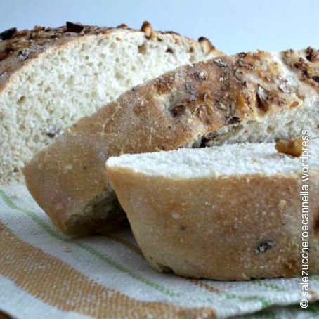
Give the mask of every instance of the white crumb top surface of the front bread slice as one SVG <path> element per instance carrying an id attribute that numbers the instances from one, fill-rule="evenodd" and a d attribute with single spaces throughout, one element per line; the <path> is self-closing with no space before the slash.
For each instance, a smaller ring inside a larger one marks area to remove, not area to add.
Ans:
<path id="1" fill-rule="evenodd" d="M 309 165 L 318 167 L 319 139 L 310 141 L 308 152 Z M 169 152 L 121 155 L 110 157 L 107 166 L 178 179 L 301 173 L 300 158 L 277 152 L 274 143 L 229 144 L 211 148 L 181 148 Z"/>

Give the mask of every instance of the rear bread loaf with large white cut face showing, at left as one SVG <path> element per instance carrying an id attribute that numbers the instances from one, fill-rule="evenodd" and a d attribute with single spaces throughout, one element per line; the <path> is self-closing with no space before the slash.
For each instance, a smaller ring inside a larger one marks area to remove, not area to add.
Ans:
<path id="1" fill-rule="evenodd" d="M 1 41 L 2 40 L 2 41 Z M 136 84 L 220 55 L 210 42 L 122 25 L 15 29 L 0 34 L 0 183 L 79 118 Z"/>

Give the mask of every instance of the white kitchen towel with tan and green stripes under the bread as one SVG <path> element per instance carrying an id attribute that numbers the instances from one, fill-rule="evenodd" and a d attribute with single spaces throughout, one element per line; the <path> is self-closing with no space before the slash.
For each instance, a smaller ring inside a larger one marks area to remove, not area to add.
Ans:
<path id="1" fill-rule="evenodd" d="M 319 318 L 319 275 L 309 280 L 302 309 L 301 278 L 157 273 L 131 230 L 70 238 L 24 185 L 0 187 L 0 318 Z"/>

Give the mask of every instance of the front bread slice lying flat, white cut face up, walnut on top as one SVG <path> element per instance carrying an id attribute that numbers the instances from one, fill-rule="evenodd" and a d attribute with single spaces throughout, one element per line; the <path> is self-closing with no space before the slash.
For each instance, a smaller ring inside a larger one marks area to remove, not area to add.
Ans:
<path id="1" fill-rule="evenodd" d="M 303 212 L 309 271 L 319 273 L 319 140 L 308 152 L 304 208 L 301 158 L 276 152 L 273 143 L 122 155 L 106 166 L 153 268 L 248 280 L 301 275 Z"/>

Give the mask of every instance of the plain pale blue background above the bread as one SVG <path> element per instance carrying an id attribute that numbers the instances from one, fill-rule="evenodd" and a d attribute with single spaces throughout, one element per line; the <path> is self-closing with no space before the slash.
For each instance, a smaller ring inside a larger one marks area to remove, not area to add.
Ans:
<path id="1" fill-rule="evenodd" d="M 319 48 L 318 0 L 0 0 L 0 30 L 65 21 L 174 30 L 205 36 L 221 51 Z"/>

